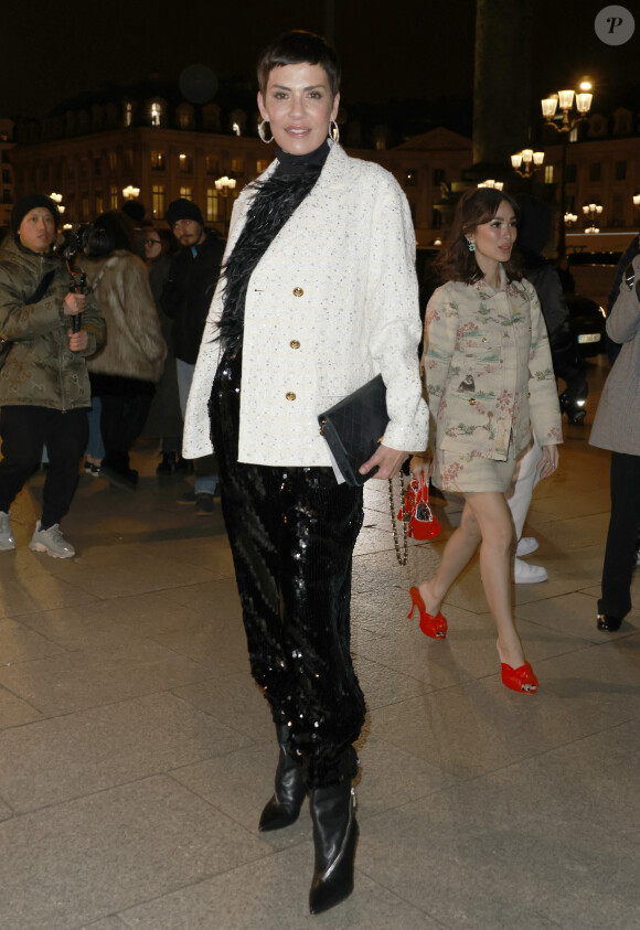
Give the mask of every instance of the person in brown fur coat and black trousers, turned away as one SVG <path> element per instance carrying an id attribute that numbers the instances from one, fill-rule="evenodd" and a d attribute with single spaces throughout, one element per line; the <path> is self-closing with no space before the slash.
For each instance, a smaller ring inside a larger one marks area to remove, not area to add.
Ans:
<path id="1" fill-rule="evenodd" d="M 107 323 L 105 345 L 87 361 L 92 394 L 102 402 L 102 474 L 116 488 L 134 490 L 138 472 L 129 466 L 129 452 L 149 414 L 167 345 L 147 269 L 134 254 L 126 217 L 110 211 L 94 225 L 114 246 L 100 257 L 78 257 Z"/>

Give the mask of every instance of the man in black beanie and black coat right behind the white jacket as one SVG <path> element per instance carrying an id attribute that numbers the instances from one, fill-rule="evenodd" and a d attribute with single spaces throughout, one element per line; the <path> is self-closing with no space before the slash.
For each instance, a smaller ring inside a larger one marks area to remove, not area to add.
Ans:
<path id="1" fill-rule="evenodd" d="M 169 204 L 166 220 L 182 246 L 171 263 L 160 304 L 173 320 L 173 351 L 184 417 L 204 323 L 220 277 L 224 240 L 205 229 L 200 209 L 185 197 Z M 214 457 L 196 459 L 194 470 L 194 491 L 183 494 L 180 501 L 195 503 L 198 514 L 212 513 L 217 485 Z"/>

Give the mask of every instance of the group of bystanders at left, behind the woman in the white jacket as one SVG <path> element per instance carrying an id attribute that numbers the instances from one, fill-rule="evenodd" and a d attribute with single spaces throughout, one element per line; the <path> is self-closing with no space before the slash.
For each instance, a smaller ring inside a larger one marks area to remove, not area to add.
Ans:
<path id="1" fill-rule="evenodd" d="M 31 546 L 73 557 L 60 521 L 79 463 L 132 491 L 139 475 L 129 457 L 140 436 L 160 442 L 158 474 L 194 472 L 179 502 L 213 513 L 215 458 L 184 459 L 182 431 L 224 242 L 185 199 L 164 218 L 159 227 L 142 204 L 127 202 L 81 227 L 79 242 L 58 235 L 50 197 L 28 195 L 13 207 L 0 252 L 0 549 L 15 546 L 10 505 L 43 462 Z"/>

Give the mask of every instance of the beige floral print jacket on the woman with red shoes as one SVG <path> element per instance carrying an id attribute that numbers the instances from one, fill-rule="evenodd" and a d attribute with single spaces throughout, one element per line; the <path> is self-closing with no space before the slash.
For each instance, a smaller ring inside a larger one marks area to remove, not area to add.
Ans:
<path id="1" fill-rule="evenodd" d="M 533 285 L 448 281 L 427 306 L 425 380 L 436 447 L 505 461 L 562 442 L 548 336 Z"/>

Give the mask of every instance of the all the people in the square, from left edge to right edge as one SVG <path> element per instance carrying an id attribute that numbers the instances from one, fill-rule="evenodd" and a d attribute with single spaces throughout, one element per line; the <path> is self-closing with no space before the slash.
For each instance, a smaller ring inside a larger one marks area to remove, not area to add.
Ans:
<path id="1" fill-rule="evenodd" d="M 393 175 L 340 146 L 334 51 L 286 33 L 262 53 L 258 86 L 274 160 L 234 203 L 226 243 L 190 200 L 169 205 L 167 228 L 128 204 L 96 218 L 72 264 L 54 252 L 53 201 L 32 194 L 13 207 L 0 249 L 0 549 L 15 547 L 11 503 L 44 448 L 31 547 L 54 557 L 75 554 L 60 522 L 83 456 L 85 471 L 132 491 L 131 449 L 156 436 L 159 474 L 194 470 L 181 502 L 209 514 L 220 492 L 278 750 L 258 827 L 287 827 L 309 799 L 318 913 L 354 884 L 365 702 L 350 598 L 364 481 L 412 457 L 414 474 L 463 496 L 436 574 L 410 588 L 409 616 L 417 608 L 420 630 L 444 639 L 447 591 L 479 548 L 502 682 L 534 694 L 511 582 L 546 578 L 522 563 L 537 547 L 523 525 L 535 483 L 558 464 L 556 378 L 585 385 L 559 278 L 541 257 L 542 204 L 484 188 L 460 197 L 423 330 L 410 211 Z M 604 631 L 630 610 L 640 525 L 640 424 L 629 426 L 640 409 L 639 275 L 636 252 L 607 321 L 622 348 L 591 435 L 612 450 Z M 377 374 L 388 424 L 362 481 L 346 483 L 318 415 Z"/>

